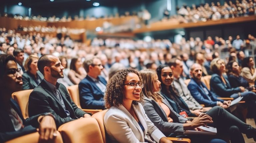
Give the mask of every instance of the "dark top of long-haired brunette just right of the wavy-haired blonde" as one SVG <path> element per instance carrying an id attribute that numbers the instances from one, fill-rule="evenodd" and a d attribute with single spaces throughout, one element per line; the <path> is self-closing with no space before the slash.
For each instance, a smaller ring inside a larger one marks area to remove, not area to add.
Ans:
<path id="1" fill-rule="evenodd" d="M 230 85 L 231 85 L 232 88 L 243 86 L 248 90 L 252 90 L 252 87 L 249 86 L 248 81 L 244 77 L 242 77 L 241 75 L 239 75 L 237 77 L 233 74 L 229 74 L 228 75 L 228 80 L 229 80 Z"/>

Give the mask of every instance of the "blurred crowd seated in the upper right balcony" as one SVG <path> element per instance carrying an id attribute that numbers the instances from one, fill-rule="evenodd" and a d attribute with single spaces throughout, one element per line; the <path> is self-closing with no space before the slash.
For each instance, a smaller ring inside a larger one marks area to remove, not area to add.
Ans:
<path id="1" fill-rule="evenodd" d="M 215 3 L 212 2 L 211 6 L 209 3 L 200 6 L 193 4 L 192 7 L 184 5 L 177 9 L 177 19 L 180 23 L 219 20 L 255 15 L 256 1 L 242 0 L 240 2 L 236 0 L 235 3 L 232 1 L 225 1 L 224 5 L 221 5 L 220 2 L 217 2 L 217 5 L 215 5 Z"/>

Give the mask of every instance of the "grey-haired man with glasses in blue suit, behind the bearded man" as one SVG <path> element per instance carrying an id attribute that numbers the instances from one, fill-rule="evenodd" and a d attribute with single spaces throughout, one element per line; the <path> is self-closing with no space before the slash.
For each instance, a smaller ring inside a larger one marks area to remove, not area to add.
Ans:
<path id="1" fill-rule="evenodd" d="M 107 81 L 99 76 L 103 69 L 100 59 L 92 57 L 84 61 L 87 76 L 78 84 L 80 104 L 86 109 L 104 109 L 103 100 Z"/>

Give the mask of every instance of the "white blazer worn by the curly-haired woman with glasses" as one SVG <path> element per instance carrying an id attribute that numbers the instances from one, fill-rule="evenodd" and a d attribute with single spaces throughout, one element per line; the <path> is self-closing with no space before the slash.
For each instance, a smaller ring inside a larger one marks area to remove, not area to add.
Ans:
<path id="1" fill-rule="evenodd" d="M 104 116 L 104 126 L 112 140 L 111 143 L 141 143 L 145 142 L 145 139 L 149 143 L 154 143 L 153 140 L 158 143 L 162 137 L 165 137 L 150 121 L 140 103 L 132 107 L 145 129 L 144 132 L 123 105 L 111 107 Z"/>

